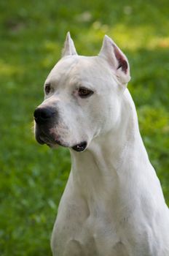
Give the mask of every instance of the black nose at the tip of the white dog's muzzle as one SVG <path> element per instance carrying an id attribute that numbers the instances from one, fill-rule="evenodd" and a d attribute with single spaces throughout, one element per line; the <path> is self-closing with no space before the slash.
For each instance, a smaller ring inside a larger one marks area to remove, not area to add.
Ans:
<path id="1" fill-rule="evenodd" d="M 37 124 L 44 124 L 50 121 L 55 115 L 55 110 L 53 108 L 36 108 L 34 111 L 34 119 Z"/>

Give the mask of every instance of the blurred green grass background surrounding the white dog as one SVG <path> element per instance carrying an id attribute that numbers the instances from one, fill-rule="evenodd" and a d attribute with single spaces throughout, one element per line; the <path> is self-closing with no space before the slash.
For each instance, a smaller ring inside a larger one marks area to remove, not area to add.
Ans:
<path id="1" fill-rule="evenodd" d="M 141 135 L 169 204 L 168 8 L 168 0 L 0 1 L 1 256 L 51 255 L 71 163 L 68 149 L 36 143 L 33 113 L 67 31 L 81 55 L 97 55 L 104 34 L 127 55 Z"/>

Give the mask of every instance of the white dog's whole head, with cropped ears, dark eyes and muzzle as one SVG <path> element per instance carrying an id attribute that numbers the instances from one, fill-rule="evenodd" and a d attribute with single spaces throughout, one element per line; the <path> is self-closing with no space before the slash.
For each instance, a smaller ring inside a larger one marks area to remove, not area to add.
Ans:
<path id="1" fill-rule="evenodd" d="M 44 101 L 34 112 L 39 143 L 84 151 L 119 119 L 130 71 L 127 58 L 107 36 L 98 56 L 78 56 L 67 34 L 63 56 L 44 83 Z"/>

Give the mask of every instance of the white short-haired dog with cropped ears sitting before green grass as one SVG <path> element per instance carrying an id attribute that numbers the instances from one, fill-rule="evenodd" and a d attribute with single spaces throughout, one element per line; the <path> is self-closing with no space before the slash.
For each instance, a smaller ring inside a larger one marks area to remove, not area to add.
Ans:
<path id="1" fill-rule="evenodd" d="M 36 140 L 71 151 L 52 232 L 55 256 L 169 256 L 169 211 L 129 80 L 127 58 L 109 37 L 98 56 L 86 57 L 68 33 L 34 112 Z"/>

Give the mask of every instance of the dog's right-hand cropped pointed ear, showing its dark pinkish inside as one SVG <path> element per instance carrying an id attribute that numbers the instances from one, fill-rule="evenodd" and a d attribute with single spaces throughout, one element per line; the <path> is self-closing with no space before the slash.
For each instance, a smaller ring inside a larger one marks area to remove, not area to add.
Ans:
<path id="1" fill-rule="evenodd" d="M 120 83 L 126 85 L 129 82 L 130 67 L 127 57 L 110 37 L 105 35 L 103 45 L 98 56 L 106 59 L 111 68 L 114 69 L 115 75 Z"/>

